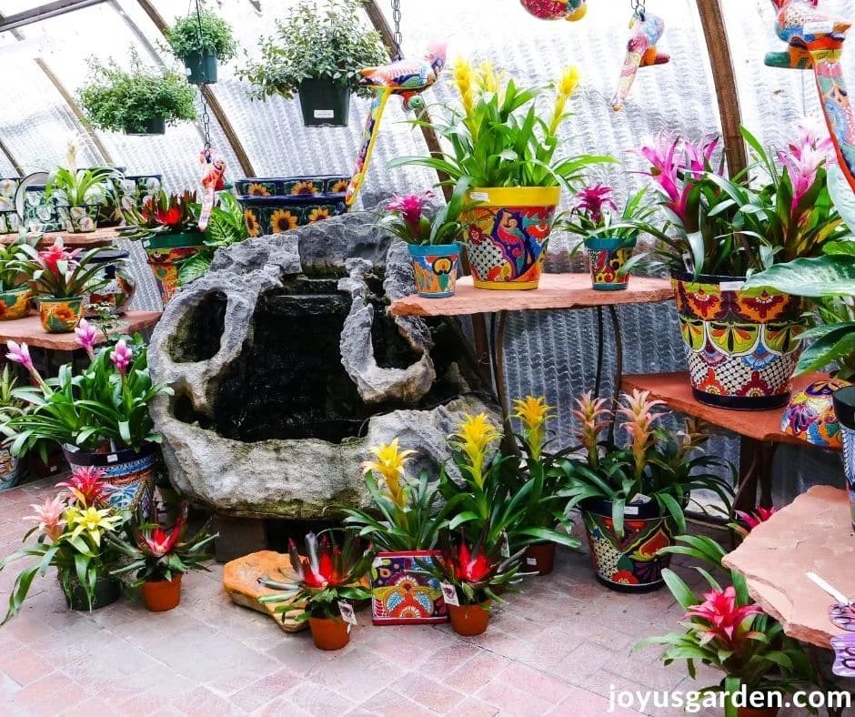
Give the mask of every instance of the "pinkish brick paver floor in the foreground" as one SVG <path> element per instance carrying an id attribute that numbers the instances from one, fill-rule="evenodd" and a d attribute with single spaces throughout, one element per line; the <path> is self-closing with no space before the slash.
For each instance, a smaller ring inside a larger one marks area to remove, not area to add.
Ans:
<path id="1" fill-rule="evenodd" d="M 0 555 L 19 545 L 21 517 L 54 493 L 52 483 L 0 493 Z M 694 581 L 694 571 L 678 570 Z M 0 573 L 3 601 L 14 576 Z M 720 679 L 701 668 L 694 682 L 681 666 L 662 666 L 655 649 L 632 652 L 640 638 L 672 629 L 679 605 L 665 589 L 606 590 L 581 553 L 561 550 L 554 574 L 527 580 L 476 638 L 448 625 L 377 628 L 362 611 L 350 644 L 333 653 L 234 605 L 221 576 L 218 565 L 186 576 L 181 605 L 164 613 L 124 598 L 91 614 L 68 611 L 54 575 L 39 579 L 22 613 L 0 628 L 0 710 L 588 717 L 609 713 L 612 689 L 686 691 Z"/>

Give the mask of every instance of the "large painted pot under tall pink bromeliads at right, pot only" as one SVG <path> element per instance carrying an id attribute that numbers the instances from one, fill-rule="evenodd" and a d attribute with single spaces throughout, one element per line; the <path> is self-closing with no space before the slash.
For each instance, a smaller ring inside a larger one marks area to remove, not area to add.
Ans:
<path id="1" fill-rule="evenodd" d="M 803 302 L 744 278 L 671 272 L 695 399 L 724 409 L 777 409 L 790 399 Z"/>

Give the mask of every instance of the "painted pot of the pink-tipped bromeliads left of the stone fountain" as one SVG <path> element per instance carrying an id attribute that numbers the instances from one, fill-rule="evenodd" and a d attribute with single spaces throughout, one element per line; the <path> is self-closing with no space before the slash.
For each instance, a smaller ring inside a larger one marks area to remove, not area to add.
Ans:
<path id="1" fill-rule="evenodd" d="M 145 518 L 152 515 L 157 459 L 154 444 L 147 444 L 138 453 L 132 449 L 96 453 L 66 443 L 63 453 L 72 468 L 94 466 L 104 470 L 109 505 L 119 510 L 139 509 Z"/>

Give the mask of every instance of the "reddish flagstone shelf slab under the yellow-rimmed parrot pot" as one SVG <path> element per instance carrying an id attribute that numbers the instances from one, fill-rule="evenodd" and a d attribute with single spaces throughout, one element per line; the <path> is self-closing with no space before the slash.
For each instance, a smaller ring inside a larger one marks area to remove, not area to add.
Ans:
<path id="1" fill-rule="evenodd" d="M 674 289 L 664 278 L 633 277 L 623 291 L 595 291 L 589 274 L 543 274 L 539 288 L 499 291 L 475 288 L 471 277 L 463 277 L 458 279 L 453 297 L 421 298 L 414 294 L 393 301 L 391 310 L 397 316 L 447 317 L 647 304 L 671 298 Z"/>

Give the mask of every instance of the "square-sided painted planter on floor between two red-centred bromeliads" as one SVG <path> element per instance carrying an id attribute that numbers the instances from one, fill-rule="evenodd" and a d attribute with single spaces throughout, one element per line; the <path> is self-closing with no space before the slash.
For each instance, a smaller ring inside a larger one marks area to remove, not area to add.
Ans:
<path id="1" fill-rule="evenodd" d="M 436 578 L 418 574 L 416 560 L 439 560 L 438 550 L 378 552 L 371 566 L 371 621 L 375 625 L 421 625 L 448 621 Z"/>

